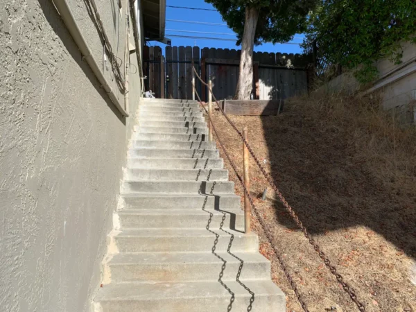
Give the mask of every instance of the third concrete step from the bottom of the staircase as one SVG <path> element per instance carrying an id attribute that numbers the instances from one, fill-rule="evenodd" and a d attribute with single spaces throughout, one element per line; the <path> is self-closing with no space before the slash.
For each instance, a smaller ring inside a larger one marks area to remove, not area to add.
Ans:
<path id="1" fill-rule="evenodd" d="M 232 229 L 126 229 L 114 236 L 120 252 L 207 252 L 216 243 L 216 252 L 257 252 L 256 234 Z"/>

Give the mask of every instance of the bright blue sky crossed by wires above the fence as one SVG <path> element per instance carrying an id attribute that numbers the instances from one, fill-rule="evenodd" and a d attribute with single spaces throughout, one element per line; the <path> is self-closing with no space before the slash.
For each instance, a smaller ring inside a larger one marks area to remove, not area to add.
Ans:
<path id="1" fill-rule="evenodd" d="M 167 6 L 187 6 L 191 8 L 208 8 L 215 9 L 210 3 L 204 0 L 166 0 Z M 241 49 L 236 46 L 236 42 L 220 41 L 220 40 L 206 40 L 206 39 L 189 39 L 172 37 L 169 35 L 187 35 L 193 37 L 216 37 L 225 39 L 236 39 L 235 33 L 227 26 L 211 26 L 200 24 L 180 23 L 176 21 L 169 21 L 169 19 L 183 20 L 183 21 L 202 21 L 213 24 L 225 24 L 219 12 L 216 11 L 202 11 L 202 10 L 186 10 L 181 8 L 166 8 L 166 37 L 172 40 L 172 46 L 199 46 L 201 49 L 208 48 L 222 48 L 222 49 Z M 207 33 L 187 33 L 189 31 L 208 32 L 220 34 Z M 229 35 L 224 35 L 229 34 Z M 301 43 L 303 35 L 295 35 L 293 42 Z M 160 42 L 148 42 L 148 45 L 162 46 L 165 45 Z M 164 50 L 164 49 L 162 49 Z M 254 46 L 254 51 L 259 52 L 280 52 L 280 53 L 302 53 L 302 48 L 297 44 L 262 44 L 261 46 Z"/>

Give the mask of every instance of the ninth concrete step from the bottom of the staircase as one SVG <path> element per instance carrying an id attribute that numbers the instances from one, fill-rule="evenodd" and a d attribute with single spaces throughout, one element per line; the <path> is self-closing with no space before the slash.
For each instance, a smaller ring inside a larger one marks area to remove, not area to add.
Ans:
<path id="1" fill-rule="evenodd" d="M 137 158 L 219 158 L 218 150 L 130 148 L 128 155 Z"/>

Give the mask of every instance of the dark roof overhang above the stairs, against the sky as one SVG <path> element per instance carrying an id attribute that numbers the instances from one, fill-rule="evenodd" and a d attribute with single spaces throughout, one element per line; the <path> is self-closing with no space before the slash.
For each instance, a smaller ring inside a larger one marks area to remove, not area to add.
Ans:
<path id="1" fill-rule="evenodd" d="M 141 0 L 144 35 L 148 40 L 163 40 L 166 25 L 166 0 Z"/>

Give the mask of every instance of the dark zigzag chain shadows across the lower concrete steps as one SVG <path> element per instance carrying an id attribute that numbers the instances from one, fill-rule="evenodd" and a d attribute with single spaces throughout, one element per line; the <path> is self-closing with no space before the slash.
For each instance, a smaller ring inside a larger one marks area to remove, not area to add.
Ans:
<path id="1" fill-rule="evenodd" d="M 205 211 L 205 212 L 207 212 L 207 214 L 209 214 L 209 219 L 208 219 L 208 223 L 207 223 L 206 229 L 207 229 L 207 231 L 211 232 L 215 236 L 214 245 L 211 248 L 211 252 L 218 259 L 220 259 L 220 261 L 223 262 L 223 265 L 221 266 L 220 273 L 218 275 L 218 283 L 220 283 L 221 286 L 223 286 L 223 288 L 225 288 L 225 290 L 228 291 L 229 295 L 231 296 L 230 297 L 230 300 L 229 300 L 229 304 L 227 306 L 227 311 L 229 312 L 229 311 L 232 310 L 232 304 L 234 304 L 234 301 L 235 301 L 235 294 L 231 290 L 231 288 L 229 288 L 227 286 L 227 284 L 225 284 L 225 282 L 223 281 L 224 272 L 225 272 L 225 269 L 227 268 L 227 261 L 223 257 L 221 257 L 219 254 L 216 253 L 216 245 L 218 244 L 218 240 L 220 238 L 220 235 L 218 233 L 212 231 L 211 228 L 210 228 L 211 227 L 212 218 L 213 218 L 214 214 L 212 214 L 211 212 L 209 212 L 209 211 L 207 211 L 205 209 L 205 207 L 207 205 L 207 200 L 208 200 L 208 197 L 209 196 L 214 196 L 215 197 L 214 198 L 214 210 L 220 211 L 223 214 L 223 218 L 221 219 L 221 223 L 220 223 L 220 228 L 219 229 L 222 232 L 225 232 L 226 234 L 229 234 L 229 236 L 230 236 L 229 244 L 228 244 L 228 247 L 227 247 L 227 253 L 230 254 L 235 259 L 237 259 L 237 260 L 240 261 L 239 270 L 238 270 L 237 275 L 236 275 L 236 281 L 245 289 L 245 291 L 248 291 L 248 293 L 250 293 L 251 298 L 250 298 L 250 303 L 248 304 L 248 307 L 247 307 L 247 311 L 251 311 L 252 310 L 252 304 L 254 302 L 254 293 L 250 290 L 250 288 L 248 288 L 245 284 L 243 284 L 242 281 L 240 281 L 240 276 L 241 276 L 241 272 L 243 270 L 244 261 L 231 252 L 232 243 L 234 241 L 234 235 L 231 234 L 231 233 L 229 233 L 229 232 L 227 232 L 225 229 L 223 229 L 224 223 L 225 223 L 225 219 L 227 218 L 227 214 L 229 214 L 229 216 L 230 216 L 230 225 L 229 225 L 229 228 L 235 230 L 236 215 L 235 214 L 232 214 L 232 213 L 229 213 L 227 211 L 220 210 L 220 196 L 214 195 L 214 189 L 215 189 L 215 186 L 216 186 L 216 182 L 213 183 L 213 185 L 211 187 L 211 190 L 209 191 L 209 194 L 207 193 L 207 182 L 209 181 L 209 177 L 211 176 L 211 173 L 212 173 L 212 169 L 210 169 L 210 171 L 209 171 L 209 174 L 207 176 L 207 181 L 202 181 L 201 182 L 200 190 L 198 191 L 198 193 L 201 196 L 205 196 L 205 200 L 204 200 L 204 203 L 202 205 L 202 211 Z M 200 171 L 198 171 L 198 176 L 196 178 L 197 181 L 198 181 L 199 175 L 200 175 Z"/>

